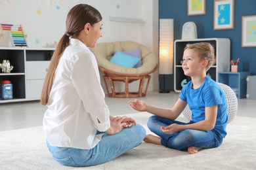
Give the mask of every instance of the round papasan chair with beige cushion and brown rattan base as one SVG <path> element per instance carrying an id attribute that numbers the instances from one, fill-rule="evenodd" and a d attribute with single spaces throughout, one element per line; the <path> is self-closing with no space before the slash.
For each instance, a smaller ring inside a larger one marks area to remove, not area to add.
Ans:
<path id="1" fill-rule="evenodd" d="M 126 68 L 110 62 L 117 51 L 125 52 L 138 48 L 141 50 L 142 65 L 140 67 Z M 131 98 L 146 95 L 151 78 L 150 73 L 154 73 L 158 69 L 158 59 L 146 46 L 133 41 L 101 42 L 96 44 L 95 48 L 91 48 L 91 52 L 95 54 L 98 68 L 104 73 L 103 79 L 109 97 Z M 136 80 L 140 80 L 139 90 L 129 92 L 129 83 Z M 146 87 L 144 87 L 146 80 Z M 125 83 L 124 92 L 116 92 L 114 81 Z"/>

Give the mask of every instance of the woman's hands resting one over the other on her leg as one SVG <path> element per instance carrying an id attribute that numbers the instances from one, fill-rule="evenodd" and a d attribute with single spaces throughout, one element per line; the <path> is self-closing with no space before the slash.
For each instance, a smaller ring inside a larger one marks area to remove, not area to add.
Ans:
<path id="1" fill-rule="evenodd" d="M 136 125 L 137 123 L 132 118 L 127 118 L 127 116 L 116 116 L 116 118 L 112 117 L 110 119 L 110 128 L 106 130 L 106 133 L 108 133 L 108 135 L 115 135 L 123 128 L 131 127 L 133 124 Z"/>

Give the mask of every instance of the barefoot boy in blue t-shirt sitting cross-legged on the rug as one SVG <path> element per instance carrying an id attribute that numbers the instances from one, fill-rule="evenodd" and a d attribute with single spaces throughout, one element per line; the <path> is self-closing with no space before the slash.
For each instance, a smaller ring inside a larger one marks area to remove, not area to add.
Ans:
<path id="1" fill-rule="evenodd" d="M 228 122 L 226 98 L 217 82 L 206 74 L 214 60 L 211 44 L 187 44 L 182 59 L 184 75 L 190 76 L 191 81 L 182 88 L 171 109 L 152 107 L 139 99 L 129 101 L 129 105 L 154 114 L 148 120 L 148 128 L 158 136 L 148 134 L 144 142 L 196 154 L 202 148 L 215 148 L 223 142 Z M 192 110 L 192 120 L 177 121 L 187 104 Z"/>

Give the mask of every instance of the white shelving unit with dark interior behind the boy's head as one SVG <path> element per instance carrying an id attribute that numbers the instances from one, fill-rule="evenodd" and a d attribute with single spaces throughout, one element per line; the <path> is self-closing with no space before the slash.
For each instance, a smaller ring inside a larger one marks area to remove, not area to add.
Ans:
<path id="1" fill-rule="evenodd" d="M 209 42 L 215 47 L 216 63 L 211 66 L 207 75 L 210 75 L 213 80 L 218 82 L 218 73 L 230 71 L 230 39 L 211 38 L 211 39 L 192 39 L 192 40 L 176 40 L 174 43 L 174 90 L 181 92 L 182 85 L 190 81 L 190 77 L 184 75 L 182 70 L 182 56 L 186 44 Z"/>

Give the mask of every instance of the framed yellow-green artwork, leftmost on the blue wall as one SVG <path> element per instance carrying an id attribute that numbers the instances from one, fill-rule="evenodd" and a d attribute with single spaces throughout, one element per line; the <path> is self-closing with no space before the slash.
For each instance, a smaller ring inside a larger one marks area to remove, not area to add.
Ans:
<path id="1" fill-rule="evenodd" d="M 188 0 L 188 16 L 205 14 L 205 0 Z"/>

